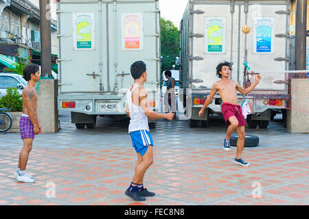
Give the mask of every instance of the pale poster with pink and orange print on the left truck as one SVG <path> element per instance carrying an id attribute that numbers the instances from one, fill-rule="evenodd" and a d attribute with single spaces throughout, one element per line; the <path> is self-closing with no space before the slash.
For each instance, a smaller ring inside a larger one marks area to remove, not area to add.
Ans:
<path id="1" fill-rule="evenodd" d="M 122 13 L 122 50 L 143 49 L 143 14 Z"/>

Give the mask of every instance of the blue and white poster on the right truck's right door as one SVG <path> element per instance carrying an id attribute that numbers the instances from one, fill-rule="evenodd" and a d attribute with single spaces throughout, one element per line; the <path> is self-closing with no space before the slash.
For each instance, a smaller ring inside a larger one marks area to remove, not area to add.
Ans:
<path id="1" fill-rule="evenodd" d="M 253 18 L 253 54 L 275 53 L 275 18 Z"/>

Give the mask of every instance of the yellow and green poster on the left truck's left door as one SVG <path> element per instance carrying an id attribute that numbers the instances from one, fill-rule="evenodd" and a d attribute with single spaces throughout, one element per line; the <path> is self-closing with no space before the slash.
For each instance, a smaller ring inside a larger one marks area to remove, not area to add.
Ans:
<path id="1" fill-rule="evenodd" d="M 94 50 L 94 13 L 73 13 L 73 49 Z"/>

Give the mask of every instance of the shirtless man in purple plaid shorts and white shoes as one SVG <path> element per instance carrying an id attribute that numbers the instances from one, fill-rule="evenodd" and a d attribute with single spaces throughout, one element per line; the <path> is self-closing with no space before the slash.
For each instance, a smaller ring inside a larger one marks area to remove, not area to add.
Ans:
<path id="1" fill-rule="evenodd" d="M 42 133 L 42 127 L 38 122 L 38 114 L 36 112 L 38 95 L 34 89 L 34 86 L 40 80 L 39 66 L 36 64 L 25 66 L 23 78 L 28 81 L 27 86 L 23 89 L 23 115 L 19 120 L 23 149 L 19 154 L 19 166 L 16 169 L 14 177 L 17 181 L 34 183 L 33 177 L 26 174 L 25 168 L 30 151 L 32 150 L 34 135 Z"/>

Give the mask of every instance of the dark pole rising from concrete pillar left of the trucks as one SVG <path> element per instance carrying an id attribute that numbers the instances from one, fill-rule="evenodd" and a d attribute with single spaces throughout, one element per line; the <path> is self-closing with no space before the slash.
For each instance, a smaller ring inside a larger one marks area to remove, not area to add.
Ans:
<path id="1" fill-rule="evenodd" d="M 41 77 L 52 75 L 52 37 L 49 0 L 40 0 Z"/>

